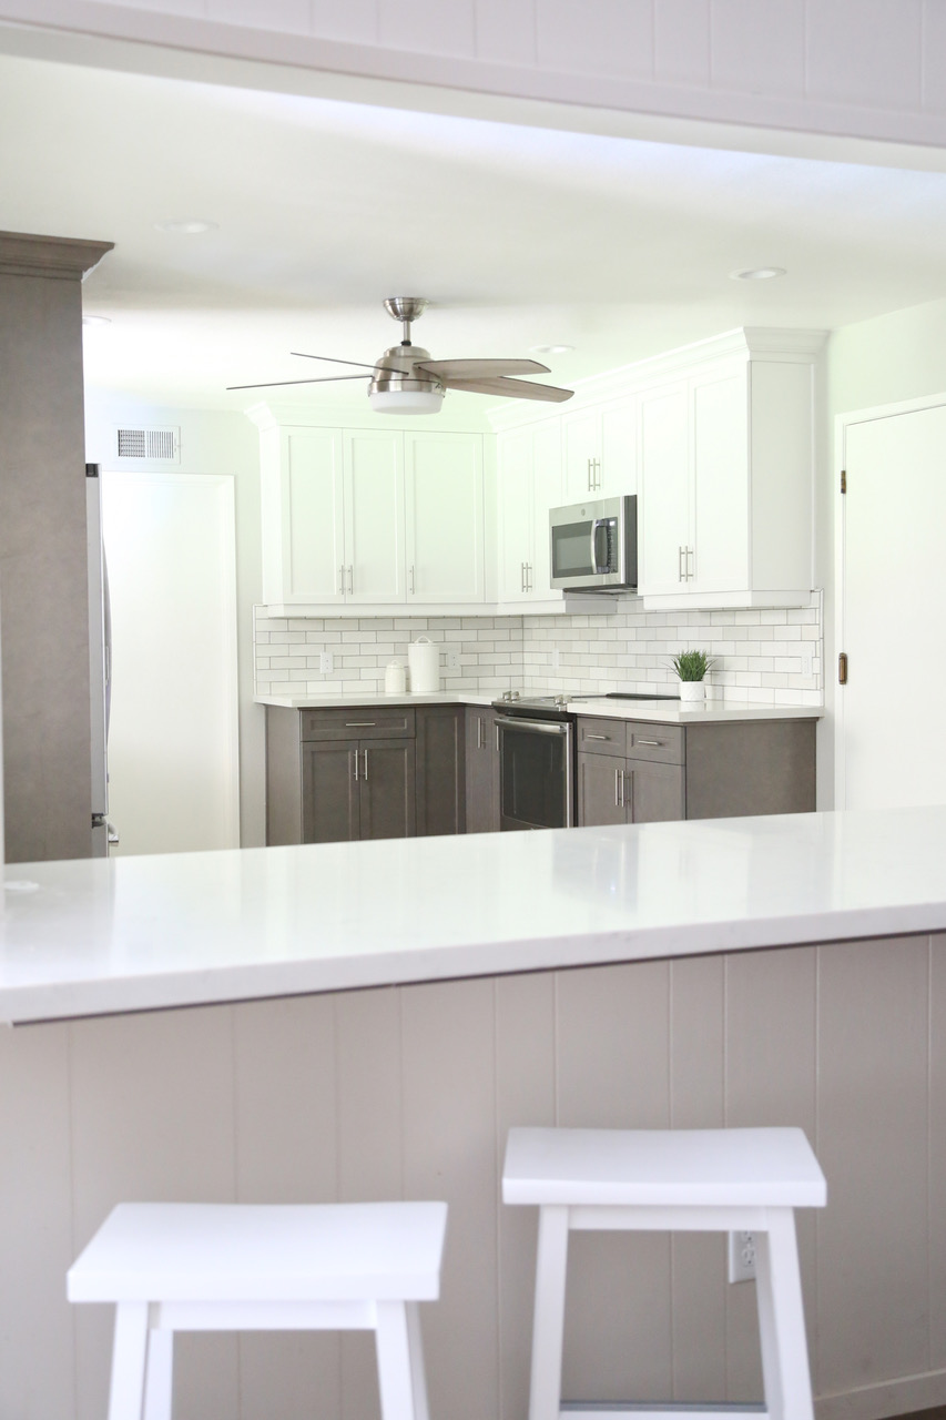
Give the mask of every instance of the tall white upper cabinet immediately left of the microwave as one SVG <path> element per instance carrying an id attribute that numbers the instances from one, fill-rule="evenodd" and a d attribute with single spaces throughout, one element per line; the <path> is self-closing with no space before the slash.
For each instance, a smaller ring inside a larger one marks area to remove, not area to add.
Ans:
<path id="1" fill-rule="evenodd" d="M 561 599 L 548 585 L 548 510 L 561 503 L 561 425 L 527 425 L 499 436 L 500 602 Z"/>

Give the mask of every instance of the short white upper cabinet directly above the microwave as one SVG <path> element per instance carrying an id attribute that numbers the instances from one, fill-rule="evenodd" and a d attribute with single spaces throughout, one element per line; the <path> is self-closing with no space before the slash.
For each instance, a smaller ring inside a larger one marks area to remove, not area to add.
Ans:
<path id="1" fill-rule="evenodd" d="M 612 498 L 635 493 L 636 402 L 618 399 L 577 409 L 562 420 L 564 500 Z"/>

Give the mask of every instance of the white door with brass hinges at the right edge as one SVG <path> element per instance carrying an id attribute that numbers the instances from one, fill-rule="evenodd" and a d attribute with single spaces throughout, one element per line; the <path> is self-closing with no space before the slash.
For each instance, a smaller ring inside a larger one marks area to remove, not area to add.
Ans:
<path id="1" fill-rule="evenodd" d="M 847 426 L 838 808 L 946 804 L 945 405 Z"/>

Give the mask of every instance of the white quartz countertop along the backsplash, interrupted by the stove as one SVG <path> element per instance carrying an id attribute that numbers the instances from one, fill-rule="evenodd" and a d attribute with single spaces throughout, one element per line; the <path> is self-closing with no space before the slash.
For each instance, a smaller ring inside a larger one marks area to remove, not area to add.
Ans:
<path id="1" fill-rule="evenodd" d="M 257 696 L 266 706 L 284 710 L 331 710 L 352 706 L 433 706 L 463 704 L 491 706 L 501 692 L 474 694 L 473 692 L 440 692 L 432 696 Z M 524 692 L 528 694 L 528 692 Z M 683 704 L 680 700 L 607 700 L 599 696 L 568 701 L 572 714 L 604 716 L 609 720 L 645 720 L 660 724 L 710 724 L 719 720 L 820 720 L 820 706 L 757 706 L 734 700 L 707 700 L 703 704 Z"/>

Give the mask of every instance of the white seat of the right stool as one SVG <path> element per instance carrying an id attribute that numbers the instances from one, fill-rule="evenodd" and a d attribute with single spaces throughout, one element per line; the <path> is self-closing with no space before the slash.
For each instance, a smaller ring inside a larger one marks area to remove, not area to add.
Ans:
<path id="1" fill-rule="evenodd" d="M 506 1203 L 820 1208 L 801 1129 L 510 1129 Z"/>

